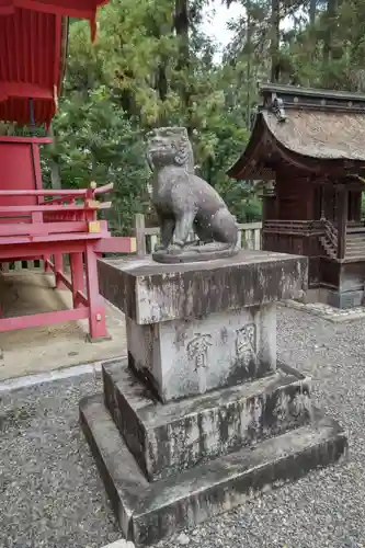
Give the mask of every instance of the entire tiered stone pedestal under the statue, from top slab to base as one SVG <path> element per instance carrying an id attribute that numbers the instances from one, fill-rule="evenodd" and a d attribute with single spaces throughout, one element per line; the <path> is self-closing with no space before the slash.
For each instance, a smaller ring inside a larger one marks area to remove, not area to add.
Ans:
<path id="1" fill-rule="evenodd" d="M 128 539 L 156 543 L 343 454 L 308 379 L 276 359 L 275 302 L 306 289 L 306 258 L 130 258 L 99 271 L 125 312 L 128 358 L 104 364 L 104 395 L 80 416 Z"/>

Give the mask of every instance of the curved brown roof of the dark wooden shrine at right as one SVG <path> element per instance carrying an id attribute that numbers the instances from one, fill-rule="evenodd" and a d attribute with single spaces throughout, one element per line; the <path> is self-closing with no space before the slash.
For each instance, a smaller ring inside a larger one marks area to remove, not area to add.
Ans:
<path id="1" fill-rule="evenodd" d="M 364 173 L 364 94 L 272 84 L 262 94 L 250 140 L 229 176 L 270 180 L 290 167 L 335 178 Z"/>

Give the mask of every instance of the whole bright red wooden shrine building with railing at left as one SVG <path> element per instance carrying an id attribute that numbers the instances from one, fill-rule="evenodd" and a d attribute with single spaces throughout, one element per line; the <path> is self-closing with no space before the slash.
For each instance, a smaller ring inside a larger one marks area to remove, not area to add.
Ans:
<path id="1" fill-rule="evenodd" d="M 90 21 L 107 0 L 0 0 L 0 121 L 48 127 L 61 89 L 68 16 Z M 72 292 L 71 310 L 0 318 L 0 331 L 89 319 L 90 336 L 104 338 L 105 307 L 96 260 L 103 252 L 130 252 L 134 240 L 112 238 L 98 198 L 112 184 L 84 190 L 44 190 L 39 147 L 50 138 L 0 137 L 0 264 L 42 260 L 56 287 Z M 70 277 L 64 269 L 69 255 Z"/>

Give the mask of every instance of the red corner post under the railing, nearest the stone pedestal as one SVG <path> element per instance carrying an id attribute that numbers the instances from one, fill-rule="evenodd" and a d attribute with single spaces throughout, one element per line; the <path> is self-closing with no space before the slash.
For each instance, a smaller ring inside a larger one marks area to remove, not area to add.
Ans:
<path id="1" fill-rule="evenodd" d="M 85 271 L 89 300 L 89 330 L 91 339 L 106 336 L 105 306 L 99 293 L 98 260 L 93 244 L 85 246 Z"/>

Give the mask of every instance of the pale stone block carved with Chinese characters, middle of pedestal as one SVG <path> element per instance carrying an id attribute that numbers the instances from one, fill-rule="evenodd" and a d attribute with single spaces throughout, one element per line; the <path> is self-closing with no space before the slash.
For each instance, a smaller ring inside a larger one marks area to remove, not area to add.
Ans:
<path id="1" fill-rule="evenodd" d="M 275 304 L 148 326 L 127 317 L 126 327 L 129 365 L 164 402 L 276 368 Z"/>

